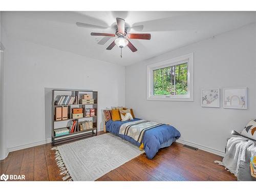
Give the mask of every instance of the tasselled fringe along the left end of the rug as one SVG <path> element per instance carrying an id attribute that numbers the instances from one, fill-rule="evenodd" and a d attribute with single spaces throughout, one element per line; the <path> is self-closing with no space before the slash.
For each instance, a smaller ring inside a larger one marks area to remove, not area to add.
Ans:
<path id="1" fill-rule="evenodd" d="M 62 180 L 63 181 L 73 181 L 73 179 L 71 178 L 67 167 L 65 166 L 65 163 L 60 155 L 60 152 L 58 150 L 58 147 L 53 147 L 51 148 L 51 150 L 55 150 L 55 160 L 56 160 L 56 164 L 59 167 L 59 171 L 60 171 L 60 175 L 62 175 Z"/>

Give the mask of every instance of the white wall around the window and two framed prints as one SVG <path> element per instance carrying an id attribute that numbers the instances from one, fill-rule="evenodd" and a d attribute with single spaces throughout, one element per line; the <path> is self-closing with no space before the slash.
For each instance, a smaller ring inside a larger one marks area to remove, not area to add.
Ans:
<path id="1" fill-rule="evenodd" d="M 146 66 L 192 52 L 194 102 L 147 101 Z M 203 88 L 246 86 L 249 90 L 247 110 L 201 107 Z M 181 132 L 181 140 L 211 148 L 218 154 L 224 152 L 231 130 L 241 131 L 249 119 L 256 118 L 254 25 L 127 66 L 125 105 L 132 107 L 140 118 L 174 125 Z"/>

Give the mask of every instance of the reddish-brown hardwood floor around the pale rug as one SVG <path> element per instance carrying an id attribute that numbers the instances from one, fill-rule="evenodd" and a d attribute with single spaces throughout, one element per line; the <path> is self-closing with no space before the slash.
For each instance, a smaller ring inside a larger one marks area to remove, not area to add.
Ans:
<path id="1" fill-rule="evenodd" d="M 26 181 L 62 181 L 51 148 L 49 143 L 9 153 L 1 161 L 1 175 L 25 175 Z M 215 160 L 222 157 L 174 142 L 159 150 L 154 159 L 142 154 L 97 181 L 235 181 Z"/>

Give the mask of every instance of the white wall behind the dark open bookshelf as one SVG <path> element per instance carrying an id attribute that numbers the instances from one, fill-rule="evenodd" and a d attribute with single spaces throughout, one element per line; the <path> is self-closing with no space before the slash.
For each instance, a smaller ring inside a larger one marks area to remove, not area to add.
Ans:
<path id="1" fill-rule="evenodd" d="M 45 112 L 48 88 L 98 91 L 99 114 L 105 107 L 124 105 L 124 67 L 13 37 L 3 41 L 4 126 L 9 150 L 51 137 L 50 123 L 45 122 L 45 113 L 51 113 Z M 98 129 L 103 127 L 101 118 Z"/>

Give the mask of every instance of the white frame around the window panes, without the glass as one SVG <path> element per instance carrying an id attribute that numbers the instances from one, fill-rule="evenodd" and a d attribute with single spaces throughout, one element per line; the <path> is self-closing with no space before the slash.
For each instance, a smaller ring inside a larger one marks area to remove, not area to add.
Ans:
<path id="1" fill-rule="evenodd" d="M 187 62 L 187 88 L 186 95 L 153 95 L 154 94 L 154 70 L 180 65 Z M 194 53 L 182 55 L 165 61 L 146 66 L 147 86 L 146 99 L 158 101 L 194 101 Z"/>

